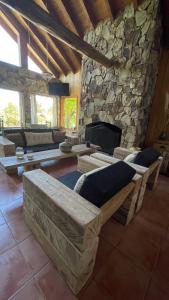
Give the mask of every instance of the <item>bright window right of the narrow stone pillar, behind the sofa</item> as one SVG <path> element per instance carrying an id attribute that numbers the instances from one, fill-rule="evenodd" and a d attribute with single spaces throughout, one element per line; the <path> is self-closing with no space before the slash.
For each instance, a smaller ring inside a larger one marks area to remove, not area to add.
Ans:
<path id="1" fill-rule="evenodd" d="M 31 99 L 32 124 L 58 124 L 58 99 L 55 97 L 33 95 Z"/>

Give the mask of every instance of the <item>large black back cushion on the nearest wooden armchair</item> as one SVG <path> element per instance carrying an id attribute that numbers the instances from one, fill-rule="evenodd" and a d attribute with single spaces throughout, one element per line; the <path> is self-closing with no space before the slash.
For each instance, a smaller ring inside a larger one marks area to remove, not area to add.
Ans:
<path id="1" fill-rule="evenodd" d="M 79 194 L 97 207 L 101 207 L 125 187 L 135 173 L 132 167 L 119 161 L 87 176 Z"/>

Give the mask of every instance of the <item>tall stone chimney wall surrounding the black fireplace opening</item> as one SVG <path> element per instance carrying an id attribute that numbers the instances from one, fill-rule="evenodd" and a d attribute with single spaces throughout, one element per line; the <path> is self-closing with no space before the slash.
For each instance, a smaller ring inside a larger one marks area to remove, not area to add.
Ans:
<path id="1" fill-rule="evenodd" d="M 145 139 L 160 53 L 159 1 L 126 7 L 114 21 L 105 20 L 85 40 L 120 67 L 82 61 L 81 134 L 87 123 L 110 122 L 122 128 L 124 147 Z"/>

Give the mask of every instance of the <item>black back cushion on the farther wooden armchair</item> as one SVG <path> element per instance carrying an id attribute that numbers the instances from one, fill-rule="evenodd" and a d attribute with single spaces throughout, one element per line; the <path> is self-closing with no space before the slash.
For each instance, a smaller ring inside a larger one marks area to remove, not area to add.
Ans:
<path id="1" fill-rule="evenodd" d="M 134 163 L 149 168 L 159 156 L 160 152 L 153 148 L 147 148 L 137 154 Z"/>

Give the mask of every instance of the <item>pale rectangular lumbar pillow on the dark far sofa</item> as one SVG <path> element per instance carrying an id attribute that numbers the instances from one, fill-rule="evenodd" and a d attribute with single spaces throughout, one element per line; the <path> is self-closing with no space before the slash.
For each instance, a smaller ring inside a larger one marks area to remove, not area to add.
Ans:
<path id="1" fill-rule="evenodd" d="M 53 144 L 52 132 L 25 132 L 27 146 Z"/>

